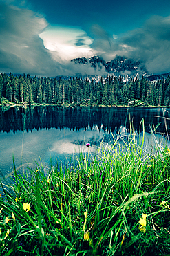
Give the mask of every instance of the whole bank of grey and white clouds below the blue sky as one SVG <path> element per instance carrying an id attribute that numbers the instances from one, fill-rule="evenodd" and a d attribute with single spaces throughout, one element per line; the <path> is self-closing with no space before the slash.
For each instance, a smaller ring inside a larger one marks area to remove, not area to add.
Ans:
<path id="1" fill-rule="evenodd" d="M 170 71 L 170 16 L 152 16 L 140 28 L 108 33 L 99 24 L 49 24 L 25 1 L 0 0 L 0 72 L 56 75 L 103 75 L 105 68 L 77 66 L 76 57 L 99 55 L 107 62 L 125 56 L 145 64 L 149 73 Z"/>

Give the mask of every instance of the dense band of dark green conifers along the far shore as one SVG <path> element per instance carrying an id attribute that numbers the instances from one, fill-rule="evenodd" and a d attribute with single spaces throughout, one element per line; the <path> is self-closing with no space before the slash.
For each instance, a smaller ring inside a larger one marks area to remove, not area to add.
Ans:
<path id="1" fill-rule="evenodd" d="M 0 74 L 0 102 L 7 104 L 89 104 L 104 106 L 169 106 L 170 77 L 151 82 L 124 82 L 119 77 L 100 77 L 98 82 L 70 77 L 68 79 Z"/>

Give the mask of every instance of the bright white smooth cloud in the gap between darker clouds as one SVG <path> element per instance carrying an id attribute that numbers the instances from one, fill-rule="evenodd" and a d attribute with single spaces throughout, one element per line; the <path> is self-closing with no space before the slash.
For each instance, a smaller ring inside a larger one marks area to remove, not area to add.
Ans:
<path id="1" fill-rule="evenodd" d="M 39 37 L 45 48 L 51 51 L 54 60 L 72 60 L 75 57 L 89 57 L 93 54 L 90 45 L 93 40 L 81 28 L 49 26 Z"/>

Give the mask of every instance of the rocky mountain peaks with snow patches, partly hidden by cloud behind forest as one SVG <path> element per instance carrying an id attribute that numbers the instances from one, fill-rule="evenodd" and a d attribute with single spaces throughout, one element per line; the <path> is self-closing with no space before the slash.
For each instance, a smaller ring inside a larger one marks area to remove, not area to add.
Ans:
<path id="1" fill-rule="evenodd" d="M 71 62 L 76 65 L 81 65 L 81 67 L 89 65 L 91 68 L 94 68 L 94 71 L 98 71 L 98 73 L 100 73 L 100 71 L 102 71 L 104 68 L 105 76 L 114 75 L 118 77 L 119 75 L 123 75 L 124 81 L 129 81 L 136 78 L 141 79 L 142 76 L 147 77 L 149 80 L 153 81 L 166 78 L 168 75 L 170 75 L 170 73 L 153 75 L 147 71 L 145 64 L 142 62 L 127 59 L 126 57 L 122 56 L 116 56 L 115 59 L 111 60 L 110 62 L 106 62 L 102 57 L 99 56 L 94 56 L 88 59 L 85 57 L 76 58 L 71 60 Z M 87 73 L 78 73 L 78 76 L 92 78 L 92 75 L 88 75 Z"/>

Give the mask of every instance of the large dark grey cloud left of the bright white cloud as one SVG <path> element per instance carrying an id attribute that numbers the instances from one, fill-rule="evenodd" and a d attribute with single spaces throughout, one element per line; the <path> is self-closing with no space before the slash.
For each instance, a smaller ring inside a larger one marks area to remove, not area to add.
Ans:
<path id="1" fill-rule="evenodd" d="M 47 21 L 34 12 L 0 3 L 0 72 L 52 76 L 60 71 L 39 33 Z"/>

